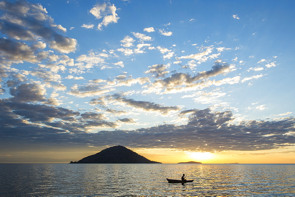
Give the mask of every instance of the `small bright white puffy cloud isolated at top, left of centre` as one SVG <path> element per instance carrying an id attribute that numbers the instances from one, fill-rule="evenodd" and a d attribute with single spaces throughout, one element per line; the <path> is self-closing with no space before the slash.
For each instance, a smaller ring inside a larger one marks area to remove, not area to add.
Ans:
<path id="1" fill-rule="evenodd" d="M 118 14 L 116 14 L 116 10 L 117 8 L 114 4 L 104 2 L 102 4 L 97 3 L 89 12 L 95 16 L 95 19 L 102 18 L 102 22 L 97 26 L 98 30 L 102 30 L 102 26 L 107 26 L 110 23 L 117 23 L 119 17 Z"/>

